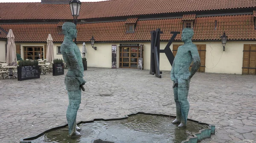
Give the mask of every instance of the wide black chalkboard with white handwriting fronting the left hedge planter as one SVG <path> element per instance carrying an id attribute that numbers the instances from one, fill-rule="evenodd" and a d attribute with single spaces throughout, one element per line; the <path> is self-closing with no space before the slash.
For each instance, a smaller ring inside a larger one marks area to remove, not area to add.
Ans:
<path id="1" fill-rule="evenodd" d="M 24 67 L 18 66 L 17 70 L 18 70 L 18 81 L 40 78 L 40 70 L 38 65 L 24 66 Z"/>

